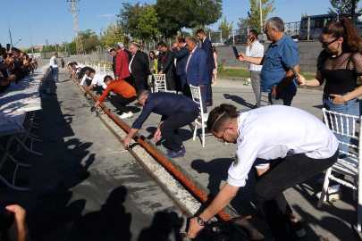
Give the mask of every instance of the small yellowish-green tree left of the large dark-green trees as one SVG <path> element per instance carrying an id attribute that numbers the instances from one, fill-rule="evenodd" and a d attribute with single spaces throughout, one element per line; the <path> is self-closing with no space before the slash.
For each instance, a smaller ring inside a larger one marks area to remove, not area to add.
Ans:
<path id="1" fill-rule="evenodd" d="M 113 21 L 108 25 L 107 29 L 101 29 L 101 34 L 99 37 L 102 42 L 102 46 L 114 46 L 118 42 L 123 42 L 125 45 L 130 43 L 130 38 L 127 37 L 121 28 L 121 24 L 119 21 Z"/>

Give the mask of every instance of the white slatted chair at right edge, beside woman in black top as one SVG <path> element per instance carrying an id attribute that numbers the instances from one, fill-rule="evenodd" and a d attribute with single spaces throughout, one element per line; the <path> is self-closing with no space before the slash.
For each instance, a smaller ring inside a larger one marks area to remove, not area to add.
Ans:
<path id="1" fill-rule="evenodd" d="M 340 150 L 340 154 L 345 154 L 346 157 L 343 159 L 338 159 L 336 163 L 333 164 L 331 168 L 326 170 L 325 178 L 324 178 L 324 185 L 322 189 L 321 197 L 319 198 L 319 202 L 317 207 L 320 208 L 324 202 L 324 196 L 326 194 L 326 190 L 329 185 L 329 180 L 334 180 L 340 183 L 343 186 L 350 187 L 353 189 L 353 200 L 356 201 L 356 195 L 358 190 L 358 184 L 361 183 L 362 179 L 358 173 L 361 171 L 362 166 L 360 165 L 361 162 L 361 145 L 362 145 L 362 138 L 359 137 L 360 133 L 362 133 L 362 126 L 359 126 L 359 133 L 356 136 L 356 122 L 357 120 L 361 120 L 360 116 L 355 115 L 348 115 L 339 112 L 331 112 L 322 109 L 323 116 L 324 116 L 324 123 L 328 126 L 328 128 L 332 129 L 333 133 L 339 134 L 345 137 L 350 137 L 351 140 L 355 139 L 358 140 L 358 145 L 352 145 L 350 143 L 343 143 L 340 142 L 342 145 L 348 145 L 349 149 L 353 148 L 356 149 L 357 154 L 353 154 L 353 150 L 349 150 L 349 152 L 343 152 Z M 343 126 L 346 126 L 347 129 L 351 130 L 351 133 L 345 133 Z M 351 147 L 351 148 L 350 148 Z M 352 151 L 352 152 L 351 152 Z M 332 170 L 337 173 L 332 174 Z M 336 176 L 344 174 L 346 176 L 350 176 L 353 179 L 353 184 L 336 178 Z M 361 231 L 361 224 L 362 224 L 362 192 L 358 191 L 358 208 L 357 208 L 357 215 L 358 215 L 358 225 L 357 229 Z"/>

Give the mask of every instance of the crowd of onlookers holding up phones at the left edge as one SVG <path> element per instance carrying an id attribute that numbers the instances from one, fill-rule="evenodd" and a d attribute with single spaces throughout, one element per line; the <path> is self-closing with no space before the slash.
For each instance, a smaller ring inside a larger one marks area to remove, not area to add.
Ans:
<path id="1" fill-rule="evenodd" d="M 0 93 L 37 70 L 34 55 L 22 53 L 18 48 L 5 48 L 0 44 Z"/>

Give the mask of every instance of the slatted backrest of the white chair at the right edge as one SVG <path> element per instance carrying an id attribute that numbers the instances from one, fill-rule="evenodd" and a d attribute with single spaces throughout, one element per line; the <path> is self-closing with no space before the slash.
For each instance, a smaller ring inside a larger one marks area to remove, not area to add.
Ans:
<path id="1" fill-rule="evenodd" d="M 356 158 L 359 160 L 359 158 L 362 158 L 362 155 L 360 155 L 361 152 L 361 145 L 362 145 L 362 138 L 360 138 L 360 133 L 362 125 L 361 123 L 361 117 L 356 115 L 349 115 L 344 114 L 340 112 L 331 112 L 325 110 L 325 108 L 322 109 L 323 117 L 324 117 L 324 123 L 325 125 L 333 131 L 335 135 L 341 135 L 344 137 L 350 137 L 351 139 L 355 139 L 358 141 L 358 145 L 354 145 L 352 143 L 344 143 L 341 142 L 341 145 L 347 145 L 349 146 L 349 151 L 344 152 L 340 150 L 340 154 L 345 154 L 347 157 Z M 359 120 L 359 129 L 357 129 L 357 120 Z M 357 132 L 358 130 L 358 132 Z M 352 141 L 353 142 L 353 141 Z M 350 149 L 352 147 L 352 149 Z M 353 152 L 353 149 L 358 150 L 358 153 L 356 154 Z M 353 153 L 352 153 L 352 152 Z M 341 159 L 340 159 L 341 161 Z M 361 160 L 359 160 L 361 161 Z"/>

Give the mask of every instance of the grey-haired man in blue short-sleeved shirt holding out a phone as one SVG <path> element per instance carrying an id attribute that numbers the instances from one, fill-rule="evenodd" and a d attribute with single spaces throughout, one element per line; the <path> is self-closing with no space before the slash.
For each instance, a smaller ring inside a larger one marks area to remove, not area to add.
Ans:
<path id="1" fill-rule="evenodd" d="M 290 70 L 299 72 L 299 49 L 297 44 L 284 33 L 284 22 L 278 17 L 266 21 L 266 37 L 273 41 L 263 58 L 239 55 L 241 62 L 262 64 L 260 72 L 260 90 L 269 92 L 271 104 L 290 105 L 297 93 L 295 76 Z"/>

